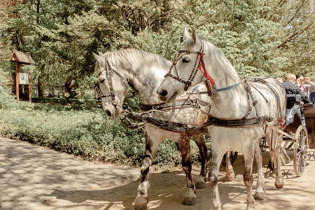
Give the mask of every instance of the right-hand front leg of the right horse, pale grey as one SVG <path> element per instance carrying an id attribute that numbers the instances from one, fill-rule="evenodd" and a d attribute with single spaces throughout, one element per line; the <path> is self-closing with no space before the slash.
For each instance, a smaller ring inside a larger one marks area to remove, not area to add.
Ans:
<path id="1" fill-rule="evenodd" d="M 246 150 L 246 154 L 244 154 L 244 160 L 245 160 L 245 170 L 243 175 L 243 180 L 246 186 L 246 192 L 247 192 L 247 208 L 246 210 L 254 210 L 254 197 L 252 196 L 252 163 L 254 159 L 254 153 L 255 153 L 255 145 L 253 147 L 249 147 Z"/>

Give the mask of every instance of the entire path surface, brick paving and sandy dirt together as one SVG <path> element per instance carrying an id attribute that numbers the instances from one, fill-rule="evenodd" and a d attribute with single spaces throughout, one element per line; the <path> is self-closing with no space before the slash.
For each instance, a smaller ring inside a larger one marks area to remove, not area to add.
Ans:
<path id="1" fill-rule="evenodd" d="M 284 188 L 274 186 L 275 174 L 266 171 L 269 152 L 263 152 L 265 200 L 256 210 L 315 210 L 315 150 L 308 156 L 302 177 L 296 177 L 293 163 L 282 168 Z M 290 153 L 292 156 L 292 153 Z M 225 210 L 245 210 L 244 158 L 233 164 L 235 179 L 225 180 L 220 168 L 219 191 Z M 193 178 L 199 174 L 193 167 Z M 91 163 L 73 155 L 0 138 L 0 209 L 14 210 L 133 210 L 139 168 Z M 257 180 L 257 170 L 253 168 Z M 210 210 L 209 183 L 197 189 L 193 206 L 184 206 L 186 177 L 181 169 L 155 171 L 150 177 L 149 210 Z"/>

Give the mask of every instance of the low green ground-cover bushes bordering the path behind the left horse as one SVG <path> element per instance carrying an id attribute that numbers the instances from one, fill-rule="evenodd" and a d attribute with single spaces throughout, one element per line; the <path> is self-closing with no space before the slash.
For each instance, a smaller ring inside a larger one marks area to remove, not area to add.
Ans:
<path id="1" fill-rule="evenodd" d="M 3 94 L 0 94 L 3 95 Z M 145 151 L 144 130 L 131 130 L 119 120 L 109 120 L 99 107 L 19 102 L 0 96 L 0 135 L 29 141 L 86 160 L 122 165 L 139 165 Z M 38 101 L 34 100 L 34 101 Z M 97 104 L 97 103 L 96 103 Z M 191 142 L 192 160 L 199 152 Z M 173 142 L 164 141 L 154 164 L 168 169 L 181 163 Z"/>

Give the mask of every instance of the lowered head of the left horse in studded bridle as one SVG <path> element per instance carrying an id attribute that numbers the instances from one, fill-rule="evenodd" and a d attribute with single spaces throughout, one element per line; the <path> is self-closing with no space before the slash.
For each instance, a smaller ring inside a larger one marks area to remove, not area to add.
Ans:
<path id="1" fill-rule="evenodd" d="M 126 77 L 117 72 L 115 63 L 110 63 L 108 54 L 93 53 L 96 60 L 95 71 L 98 73 L 98 82 L 102 106 L 111 120 L 114 120 L 123 111 L 123 102 L 128 88 Z"/>

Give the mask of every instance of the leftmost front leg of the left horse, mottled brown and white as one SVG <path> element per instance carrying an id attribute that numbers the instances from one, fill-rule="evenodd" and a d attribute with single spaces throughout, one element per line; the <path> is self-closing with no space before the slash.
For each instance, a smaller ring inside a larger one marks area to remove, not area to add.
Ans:
<path id="1" fill-rule="evenodd" d="M 146 151 L 141 164 L 141 175 L 139 178 L 139 186 L 137 189 L 137 197 L 134 200 L 134 210 L 146 210 L 148 204 L 148 189 L 149 189 L 149 171 L 152 160 L 158 150 L 158 146 L 163 139 L 154 139 L 148 135 L 146 131 Z"/>

